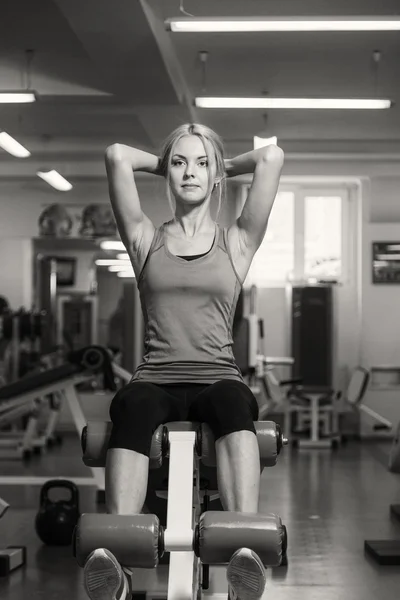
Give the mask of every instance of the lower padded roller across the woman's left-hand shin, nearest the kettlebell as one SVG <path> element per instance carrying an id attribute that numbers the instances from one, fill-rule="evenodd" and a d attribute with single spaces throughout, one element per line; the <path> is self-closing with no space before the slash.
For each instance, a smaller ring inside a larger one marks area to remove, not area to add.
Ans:
<path id="1" fill-rule="evenodd" d="M 96 548 L 107 548 L 126 567 L 153 569 L 163 550 L 163 528 L 156 515 L 83 514 L 74 531 L 80 567 Z"/>

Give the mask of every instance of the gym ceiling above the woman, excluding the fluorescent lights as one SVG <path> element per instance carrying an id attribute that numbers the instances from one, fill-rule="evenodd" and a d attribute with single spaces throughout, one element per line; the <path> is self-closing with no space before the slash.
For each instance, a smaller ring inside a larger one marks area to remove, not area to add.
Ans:
<path id="1" fill-rule="evenodd" d="M 265 129 L 264 111 L 197 109 L 196 95 L 379 96 L 394 106 L 270 110 L 267 131 L 285 152 L 400 152 L 400 32 L 165 31 L 164 20 L 179 16 L 179 6 L 180 0 L 2 0 L 0 90 L 30 86 L 40 99 L 0 105 L 0 128 L 35 160 L 79 162 L 84 175 L 82 159 L 100 164 L 107 145 L 157 151 L 171 129 L 188 121 L 214 128 L 228 154 L 251 149 L 253 135 Z M 184 0 L 183 6 L 196 16 L 400 15 L 400 0 Z M 29 72 L 28 49 L 34 50 Z M 204 81 L 202 50 L 209 53 Z M 382 56 L 378 76 L 374 50 Z M 23 176 L 26 164 L 1 151 L 0 177 Z"/>

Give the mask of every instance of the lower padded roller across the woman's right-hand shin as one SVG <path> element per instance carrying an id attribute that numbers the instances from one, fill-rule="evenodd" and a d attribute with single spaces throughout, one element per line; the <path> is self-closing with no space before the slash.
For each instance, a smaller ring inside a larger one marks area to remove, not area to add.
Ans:
<path id="1" fill-rule="evenodd" d="M 206 565 L 226 564 L 239 548 L 251 548 L 266 567 L 281 564 L 285 532 L 277 515 L 206 511 L 196 529 L 195 552 Z"/>

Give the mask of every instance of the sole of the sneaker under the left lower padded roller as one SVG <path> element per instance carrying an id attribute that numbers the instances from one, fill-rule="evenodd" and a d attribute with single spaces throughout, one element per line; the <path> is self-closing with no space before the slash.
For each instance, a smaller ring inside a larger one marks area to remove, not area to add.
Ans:
<path id="1" fill-rule="evenodd" d="M 94 550 L 85 563 L 83 576 L 91 600 L 127 600 L 127 577 L 109 550 Z"/>

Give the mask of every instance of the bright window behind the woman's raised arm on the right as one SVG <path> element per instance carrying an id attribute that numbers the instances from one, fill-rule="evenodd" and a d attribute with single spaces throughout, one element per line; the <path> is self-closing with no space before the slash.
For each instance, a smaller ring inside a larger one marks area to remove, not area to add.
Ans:
<path id="1" fill-rule="evenodd" d="M 242 206 L 249 187 L 243 186 Z M 340 281 L 348 215 L 345 188 L 282 186 L 244 285 L 282 287 L 287 282 Z"/>

